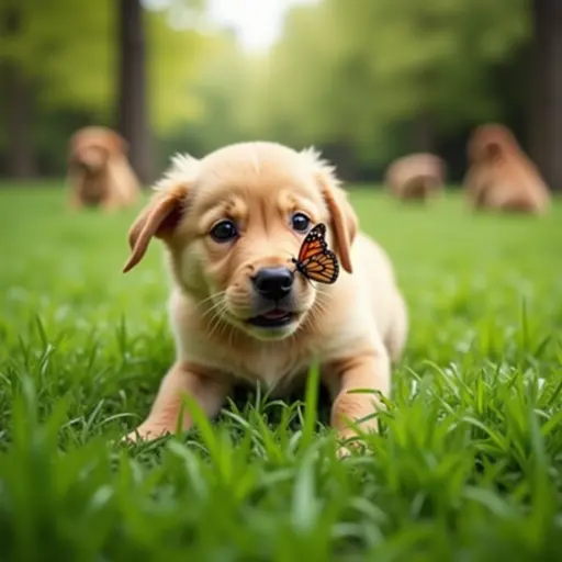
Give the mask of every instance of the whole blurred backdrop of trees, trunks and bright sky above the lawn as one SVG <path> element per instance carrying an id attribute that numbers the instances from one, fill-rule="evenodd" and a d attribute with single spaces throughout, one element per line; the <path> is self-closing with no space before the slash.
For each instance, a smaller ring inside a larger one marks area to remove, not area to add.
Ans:
<path id="1" fill-rule="evenodd" d="M 465 168 L 508 125 L 562 189 L 561 0 L 0 0 L 0 176 L 60 178 L 78 127 L 130 142 L 147 184 L 176 151 L 314 144 L 349 181 L 397 156 Z"/>

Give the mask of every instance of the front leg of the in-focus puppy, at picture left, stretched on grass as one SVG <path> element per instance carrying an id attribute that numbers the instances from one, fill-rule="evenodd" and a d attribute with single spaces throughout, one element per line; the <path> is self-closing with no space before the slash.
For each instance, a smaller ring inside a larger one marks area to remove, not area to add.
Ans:
<path id="1" fill-rule="evenodd" d="M 184 394 L 194 398 L 209 417 L 214 417 L 227 392 L 228 383 L 209 373 L 198 372 L 193 366 L 177 362 L 164 378 L 148 417 L 126 439 L 134 441 L 139 437 L 150 440 L 176 431 Z M 181 428 L 190 429 L 192 425 L 191 416 L 184 408 Z"/>

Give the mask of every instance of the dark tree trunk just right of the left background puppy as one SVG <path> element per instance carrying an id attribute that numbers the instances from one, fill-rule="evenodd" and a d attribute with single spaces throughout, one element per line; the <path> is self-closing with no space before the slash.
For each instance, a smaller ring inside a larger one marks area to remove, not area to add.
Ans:
<path id="1" fill-rule="evenodd" d="M 119 0 L 117 127 L 130 144 L 128 157 L 142 183 L 151 178 L 147 114 L 146 40 L 140 0 Z"/>

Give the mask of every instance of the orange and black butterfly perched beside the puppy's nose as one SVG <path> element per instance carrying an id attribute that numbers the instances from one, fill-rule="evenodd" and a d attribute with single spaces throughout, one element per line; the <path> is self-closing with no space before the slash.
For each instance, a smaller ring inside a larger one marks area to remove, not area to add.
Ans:
<path id="1" fill-rule="evenodd" d="M 299 258 L 291 258 L 296 271 L 306 279 L 331 284 L 339 274 L 339 263 L 336 255 L 326 244 L 326 225 L 318 223 L 304 238 L 299 250 Z"/>

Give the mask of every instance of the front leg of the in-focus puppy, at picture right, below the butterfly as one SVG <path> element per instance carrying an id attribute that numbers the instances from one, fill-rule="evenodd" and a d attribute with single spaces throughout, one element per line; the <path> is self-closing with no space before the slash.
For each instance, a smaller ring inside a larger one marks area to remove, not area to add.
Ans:
<path id="1" fill-rule="evenodd" d="M 330 386 L 335 395 L 331 406 L 330 425 L 338 432 L 338 437 L 348 439 L 355 437 L 356 431 L 349 427 L 349 422 L 358 424 L 376 412 L 382 406 L 378 395 L 389 395 L 391 382 L 391 361 L 384 348 L 357 357 L 342 359 L 331 366 Z M 361 390 L 366 392 L 349 394 L 349 391 Z M 369 392 L 370 391 L 370 392 Z M 370 418 L 359 424 L 362 431 L 376 431 L 376 418 Z M 345 454 L 346 449 L 340 450 Z"/>

